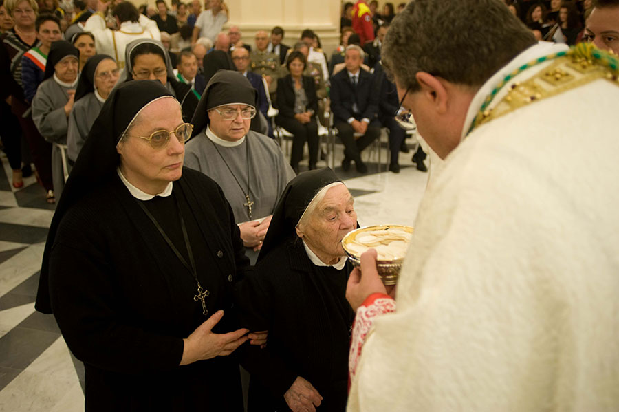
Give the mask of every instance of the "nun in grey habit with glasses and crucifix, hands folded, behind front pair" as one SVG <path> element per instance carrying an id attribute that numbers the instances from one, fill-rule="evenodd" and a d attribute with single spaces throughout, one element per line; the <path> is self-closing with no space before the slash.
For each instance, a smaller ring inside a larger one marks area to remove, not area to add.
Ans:
<path id="1" fill-rule="evenodd" d="M 250 131 L 256 101 L 257 91 L 243 74 L 217 72 L 195 111 L 193 138 L 185 150 L 185 165 L 208 175 L 224 191 L 252 264 L 277 199 L 294 177 L 276 142 Z"/>

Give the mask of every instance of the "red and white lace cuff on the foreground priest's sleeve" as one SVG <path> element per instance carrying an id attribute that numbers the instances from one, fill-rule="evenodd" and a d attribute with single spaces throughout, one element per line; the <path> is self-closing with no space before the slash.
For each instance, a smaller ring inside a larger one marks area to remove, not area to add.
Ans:
<path id="1" fill-rule="evenodd" d="M 353 324 L 350 354 L 348 357 L 350 381 L 355 376 L 357 364 L 361 356 L 361 348 L 363 343 L 365 343 L 367 333 L 372 327 L 374 318 L 390 312 L 395 312 L 395 300 L 388 294 L 382 293 L 367 296 L 367 299 L 358 307 Z"/>

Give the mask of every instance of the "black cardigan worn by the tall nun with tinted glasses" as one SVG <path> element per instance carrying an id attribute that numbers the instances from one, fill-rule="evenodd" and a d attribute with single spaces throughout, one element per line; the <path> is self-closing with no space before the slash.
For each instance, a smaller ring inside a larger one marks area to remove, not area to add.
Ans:
<path id="1" fill-rule="evenodd" d="M 235 330 L 232 289 L 249 262 L 232 210 L 219 186 L 191 169 L 173 196 L 210 292 L 209 316 L 225 311 L 213 330 Z M 178 366 L 183 338 L 206 321 L 195 290 L 116 172 L 67 210 L 50 255 L 50 297 L 69 349 L 85 364 L 87 411 L 243 410 L 234 356 Z"/>

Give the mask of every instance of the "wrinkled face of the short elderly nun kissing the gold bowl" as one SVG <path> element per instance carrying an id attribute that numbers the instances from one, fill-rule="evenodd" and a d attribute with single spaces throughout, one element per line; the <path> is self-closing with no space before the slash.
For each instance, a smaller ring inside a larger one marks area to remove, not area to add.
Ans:
<path id="1" fill-rule="evenodd" d="M 342 239 L 357 227 L 354 198 L 344 184 L 329 188 L 314 212 L 296 228 L 312 252 L 324 263 L 333 264 L 344 256 Z"/>

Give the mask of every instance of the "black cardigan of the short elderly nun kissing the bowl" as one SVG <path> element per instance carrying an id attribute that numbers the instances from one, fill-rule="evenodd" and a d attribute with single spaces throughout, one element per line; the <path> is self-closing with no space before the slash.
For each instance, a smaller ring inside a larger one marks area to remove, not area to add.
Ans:
<path id="1" fill-rule="evenodd" d="M 239 283 L 241 325 L 269 331 L 265 349 L 244 344 L 241 351 L 252 374 L 248 411 L 287 411 L 283 394 L 297 376 L 323 396 L 319 411 L 345 410 L 354 318 L 345 299 L 350 270 L 349 263 L 343 270 L 318 268 L 295 237 Z"/>

